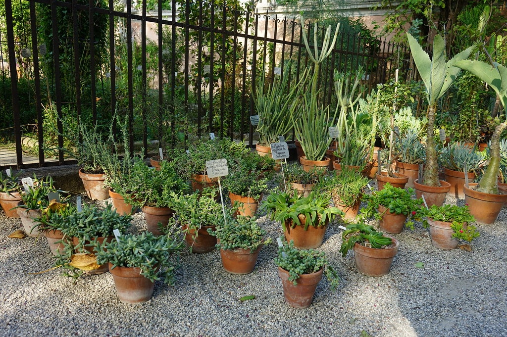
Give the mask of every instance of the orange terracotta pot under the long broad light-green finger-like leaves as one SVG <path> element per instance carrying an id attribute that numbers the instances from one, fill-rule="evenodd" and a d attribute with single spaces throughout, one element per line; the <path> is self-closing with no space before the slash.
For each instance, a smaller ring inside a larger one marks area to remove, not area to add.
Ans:
<path id="1" fill-rule="evenodd" d="M 325 230 L 328 227 L 328 223 L 324 226 L 314 227 L 310 224 L 305 230 L 306 217 L 302 214 L 298 215 L 301 224 L 291 228 L 293 221 L 292 219 L 285 220 L 285 231 L 283 235 L 287 242 L 294 240 L 294 245 L 300 249 L 318 248 L 324 241 Z"/>

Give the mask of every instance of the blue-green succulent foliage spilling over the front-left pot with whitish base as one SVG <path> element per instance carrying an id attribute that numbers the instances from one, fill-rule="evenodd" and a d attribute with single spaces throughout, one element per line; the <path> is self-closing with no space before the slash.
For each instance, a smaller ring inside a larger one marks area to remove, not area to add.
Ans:
<path id="1" fill-rule="evenodd" d="M 150 232 L 126 234 L 111 242 L 104 242 L 95 254 L 97 264 L 111 263 L 116 267 L 137 267 L 141 275 L 152 282 L 163 279 L 174 284 L 178 267 L 175 256 L 183 248 L 183 242 L 171 235 L 155 236 Z"/>

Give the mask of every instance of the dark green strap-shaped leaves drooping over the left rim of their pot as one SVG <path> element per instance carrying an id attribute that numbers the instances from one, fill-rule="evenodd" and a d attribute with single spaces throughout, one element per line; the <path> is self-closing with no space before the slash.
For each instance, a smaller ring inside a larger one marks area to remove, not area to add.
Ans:
<path id="1" fill-rule="evenodd" d="M 382 232 L 377 232 L 373 226 L 363 222 L 351 223 L 342 232 L 342 246 L 340 252 L 345 257 L 347 252 L 358 243 L 370 248 L 384 248 L 392 244 L 392 239 L 385 237 Z"/>

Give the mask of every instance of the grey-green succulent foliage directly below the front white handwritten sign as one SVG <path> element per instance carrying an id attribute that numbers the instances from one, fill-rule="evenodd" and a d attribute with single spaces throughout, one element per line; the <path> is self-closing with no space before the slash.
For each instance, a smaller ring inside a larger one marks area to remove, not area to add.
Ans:
<path id="1" fill-rule="evenodd" d="M 216 248 L 225 250 L 242 248 L 254 251 L 272 241 L 271 238 L 266 239 L 267 232 L 259 226 L 255 217 L 242 215 L 236 218 L 229 215 L 227 222 L 217 226 L 214 231 L 208 229 L 208 233 L 220 240 Z"/>

